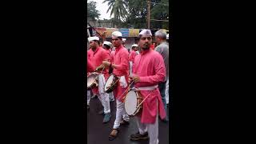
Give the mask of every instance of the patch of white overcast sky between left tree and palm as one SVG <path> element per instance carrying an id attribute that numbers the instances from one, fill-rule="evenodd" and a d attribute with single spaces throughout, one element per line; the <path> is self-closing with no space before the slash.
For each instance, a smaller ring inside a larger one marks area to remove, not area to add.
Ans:
<path id="1" fill-rule="evenodd" d="M 93 1 L 93 2 L 97 2 L 96 4 L 96 10 L 99 11 L 99 14 L 101 14 L 99 16 L 99 19 L 110 19 L 110 11 L 106 14 L 106 10 L 108 9 L 109 6 L 107 6 L 107 2 L 103 3 L 102 2 L 104 0 L 89 0 L 89 1 Z M 113 17 L 113 14 L 112 14 Z"/>

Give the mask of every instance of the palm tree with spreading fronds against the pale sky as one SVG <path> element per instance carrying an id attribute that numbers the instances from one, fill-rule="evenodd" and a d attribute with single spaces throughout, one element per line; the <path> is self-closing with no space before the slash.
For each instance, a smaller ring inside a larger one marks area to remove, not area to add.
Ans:
<path id="1" fill-rule="evenodd" d="M 109 6 L 106 13 L 110 11 L 110 16 L 114 15 L 115 22 L 125 21 L 127 15 L 127 3 L 123 0 L 105 0 L 102 3 L 106 3 Z"/>

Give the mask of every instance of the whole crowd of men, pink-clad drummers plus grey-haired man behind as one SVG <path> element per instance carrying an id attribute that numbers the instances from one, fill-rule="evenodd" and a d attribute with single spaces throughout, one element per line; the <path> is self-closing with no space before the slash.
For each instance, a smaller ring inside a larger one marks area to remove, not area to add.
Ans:
<path id="1" fill-rule="evenodd" d="M 103 42 L 98 37 L 90 37 L 90 49 L 87 51 L 87 76 L 98 74 L 98 86 L 87 90 L 87 110 L 90 110 L 90 98 L 98 97 L 104 110 L 103 123 L 110 122 L 112 116 L 110 102 L 116 102 L 115 121 L 110 130 L 109 140 L 118 137 L 119 127 L 129 125 L 124 98 L 131 83 L 143 98 L 142 112 L 136 115 L 138 133 L 131 134 L 130 140 L 150 138 L 150 144 L 158 144 L 158 118 L 168 122 L 166 114 L 169 103 L 169 34 L 158 30 L 155 34 L 157 46 L 152 46 L 153 35 L 144 29 L 138 34 L 138 43 L 125 47 L 122 33 L 114 31 L 111 42 Z M 167 39 L 167 40 L 166 40 Z M 113 92 L 106 93 L 104 85 L 110 74 L 118 77 Z M 93 94 L 91 94 L 93 93 Z"/>

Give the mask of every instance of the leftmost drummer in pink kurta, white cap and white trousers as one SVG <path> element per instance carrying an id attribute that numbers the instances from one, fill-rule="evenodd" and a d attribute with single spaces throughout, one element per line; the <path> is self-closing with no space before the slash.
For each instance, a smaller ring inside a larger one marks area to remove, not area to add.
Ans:
<path id="1" fill-rule="evenodd" d="M 108 68 L 102 65 L 103 61 L 110 61 L 110 55 L 106 50 L 99 46 L 98 37 L 90 37 L 88 41 L 90 43 L 90 50 L 88 50 L 87 58 L 94 67 L 98 70 L 98 87 L 95 87 L 92 91 L 97 94 L 99 100 L 104 107 L 103 123 L 109 122 L 111 118 L 110 114 L 110 98 L 109 94 L 104 91 L 104 85 L 106 79 L 109 77 Z M 103 70 L 104 69 L 104 70 Z"/>

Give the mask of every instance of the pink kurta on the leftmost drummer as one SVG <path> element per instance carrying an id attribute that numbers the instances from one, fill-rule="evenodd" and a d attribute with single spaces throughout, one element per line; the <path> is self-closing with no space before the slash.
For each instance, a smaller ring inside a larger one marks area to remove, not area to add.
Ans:
<path id="1" fill-rule="evenodd" d="M 103 60 L 110 61 L 110 55 L 108 54 L 108 51 L 106 51 L 102 47 L 96 48 L 95 51 L 93 51 L 91 49 L 88 50 L 87 51 L 87 58 L 88 58 L 88 61 L 90 61 L 92 63 L 92 65 L 95 67 L 95 69 L 98 66 L 102 65 Z M 101 71 L 99 71 L 99 72 L 101 72 Z M 110 76 L 108 68 L 105 68 L 103 70 L 102 74 L 104 74 L 104 77 L 107 79 Z M 98 87 L 94 88 L 92 91 L 93 91 L 94 94 L 97 94 L 98 93 Z"/>

